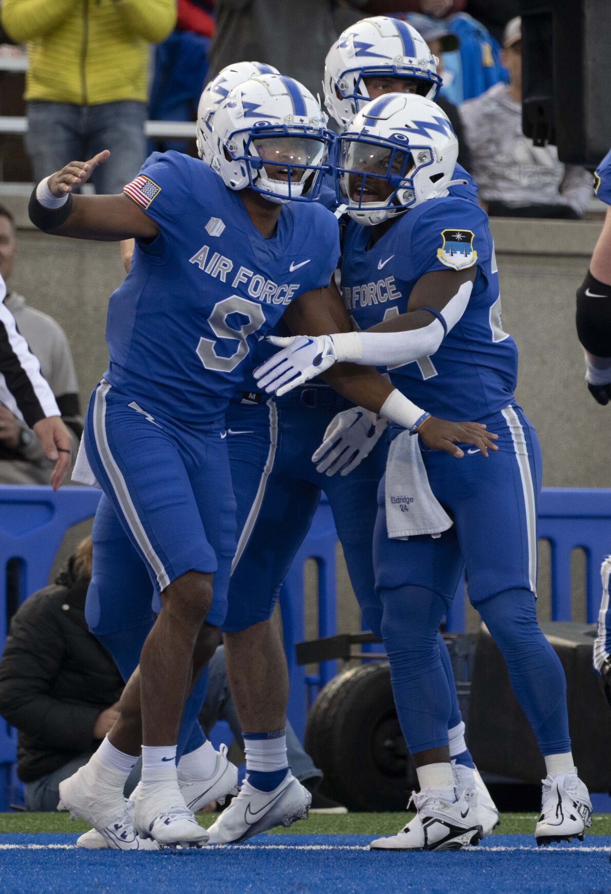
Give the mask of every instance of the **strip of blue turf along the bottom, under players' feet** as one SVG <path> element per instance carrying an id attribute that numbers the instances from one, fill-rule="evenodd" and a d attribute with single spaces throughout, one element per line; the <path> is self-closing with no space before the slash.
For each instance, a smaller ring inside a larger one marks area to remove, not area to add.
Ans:
<path id="1" fill-rule="evenodd" d="M 611 891 L 611 839 L 536 848 L 526 835 L 495 835 L 458 853 L 364 850 L 366 835 L 261 835 L 199 851 L 117 853 L 74 848 L 76 835 L 0 836 L 0 891 L 197 894 L 399 892 L 603 894 Z"/>

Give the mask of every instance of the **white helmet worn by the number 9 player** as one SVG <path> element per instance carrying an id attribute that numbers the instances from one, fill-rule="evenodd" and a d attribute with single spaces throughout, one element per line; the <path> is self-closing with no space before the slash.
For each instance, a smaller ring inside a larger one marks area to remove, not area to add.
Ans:
<path id="1" fill-rule="evenodd" d="M 274 202 L 318 198 L 334 135 L 310 90 L 281 74 L 234 87 L 210 134 L 213 166 L 230 190 L 250 187 Z"/>

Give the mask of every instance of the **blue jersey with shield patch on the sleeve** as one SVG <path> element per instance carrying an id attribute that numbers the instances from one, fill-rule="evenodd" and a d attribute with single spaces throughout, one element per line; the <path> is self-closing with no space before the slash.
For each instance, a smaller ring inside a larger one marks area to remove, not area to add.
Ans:
<path id="1" fill-rule="evenodd" d="M 501 299 L 488 217 L 471 200 L 434 198 L 413 208 L 368 249 L 369 227 L 344 235 L 344 304 L 359 329 L 409 309 L 420 276 L 477 266 L 471 299 L 437 353 L 387 372 L 435 416 L 478 420 L 513 404 L 517 350 L 501 327 Z"/>

